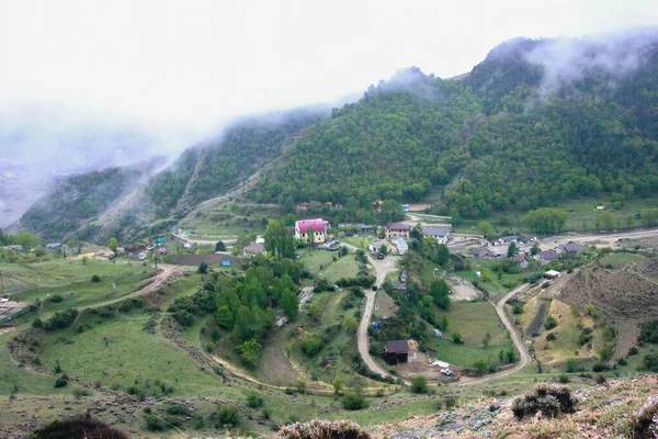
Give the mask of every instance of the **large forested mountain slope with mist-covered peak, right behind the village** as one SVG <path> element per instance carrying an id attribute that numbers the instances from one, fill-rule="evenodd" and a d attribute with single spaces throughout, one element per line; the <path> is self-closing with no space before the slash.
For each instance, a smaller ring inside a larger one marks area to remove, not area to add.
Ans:
<path id="1" fill-rule="evenodd" d="M 658 33 L 514 40 L 461 80 L 412 68 L 291 147 L 259 201 L 418 201 L 485 217 L 658 190 Z M 446 187 L 446 183 L 453 182 Z"/>

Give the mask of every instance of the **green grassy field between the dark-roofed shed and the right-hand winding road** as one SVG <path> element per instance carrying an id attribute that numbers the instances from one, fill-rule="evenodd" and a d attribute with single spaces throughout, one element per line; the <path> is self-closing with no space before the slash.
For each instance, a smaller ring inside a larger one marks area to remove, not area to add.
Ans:
<path id="1" fill-rule="evenodd" d="M 432 333 L 429 346 L 438 350 L 436 358 L 451 364 L 469 368 L 477 360 L 498 364 L 498 352 L 513 347 L 504 326 L 498 318 L 494 307 L 487 302 L 454 302 L 449 312 L 436 312 L 438 320 L 443 316 L 450 322 L 443 337 L 436 338 Z M 460 333 L 464 341 L 456 345 L 452 341 L 452 333 Z M 488 347 L 483 339 L 489 334 Z"/>

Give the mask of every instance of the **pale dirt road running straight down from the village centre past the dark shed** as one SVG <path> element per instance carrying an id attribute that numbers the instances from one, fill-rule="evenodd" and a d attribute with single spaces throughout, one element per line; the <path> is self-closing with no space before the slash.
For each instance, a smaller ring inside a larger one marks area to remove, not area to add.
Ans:
<path id="1" fill-rule="evenodd" d="M 356 251 L 359 248 L 344 244 L 345 247 Z M 382 286 L 382 284 L 386 281 L 386 275 L 397 270 L 397 258 L 387 257 L 385 259 L 378 260 L 373 259 L 367 252 L 365 254 L 370 263 L 375 268 L 377 280 L 375 281 L 375 285 L 377 285 L 377 290 Z M 375 295 L 376 291 L 372 289 L 365 290 L 365 309 L 361 315 L 361 323 L 359 324 L 359 333 L 356 334 L 356 345 L 359 346 L 359 353 L 361 358 L 367 365 L 367 368 L 373 373 L 378 373 L 382 378 L 389 376 L 390 373 L 386 372 L 379 364 L 375 362 L 375 360 L 370 354 L 370 340 L 367 337 L 367 328 L 371 325 L 371 319 L 373 315 L 373 308 L 375 307 Z"/>

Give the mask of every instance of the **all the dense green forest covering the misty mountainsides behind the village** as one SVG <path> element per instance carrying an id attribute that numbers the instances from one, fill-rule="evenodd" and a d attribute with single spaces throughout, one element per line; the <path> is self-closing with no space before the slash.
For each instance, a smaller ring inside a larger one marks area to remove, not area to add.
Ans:
<path id="1" fill-rule="evenodd" d="M 56 189 L 22 225 L 55 236 L 98 215 L 123 191 L 120 171 L 103 172 L 79 177 L 86 188 Z M 580 196 L 646 198 L 658 192 L 658 32 L 517 38 L 458 78 L 413 67 L 330 114 L 239 120 L 147 182 L 140 207 L 152 206 L 152 217 L 139 223 L 169 226 L 256 172 L 243 196 L 287 211 L 422 201 L 458 221 Z M 128 211 L 123 229 L 136 230 L 137 216 Z"/>

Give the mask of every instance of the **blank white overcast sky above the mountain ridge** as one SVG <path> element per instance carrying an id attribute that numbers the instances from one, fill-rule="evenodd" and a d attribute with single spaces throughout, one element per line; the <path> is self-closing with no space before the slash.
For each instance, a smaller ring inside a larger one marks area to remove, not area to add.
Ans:
<path id="1" fill-rule="evenodd" d="M 658 23 L 656 0 L 0 0 L 0 110 L 203 132 L 333 101 L 398 68 L 451 77 L 515 36 Z"/>

